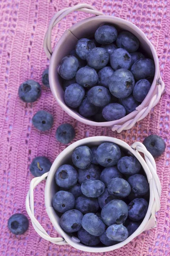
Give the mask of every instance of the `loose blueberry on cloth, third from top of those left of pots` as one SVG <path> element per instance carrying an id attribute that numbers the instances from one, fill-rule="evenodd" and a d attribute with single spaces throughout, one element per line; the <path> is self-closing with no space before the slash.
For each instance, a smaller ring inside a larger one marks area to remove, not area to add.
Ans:
<path id="1" fill-rule="evenodd" d="M 33 116 L 32 124 L 40 131 L 48 131 L 53 125 L 53 116 L 47 111 L 40 110 Z"/>

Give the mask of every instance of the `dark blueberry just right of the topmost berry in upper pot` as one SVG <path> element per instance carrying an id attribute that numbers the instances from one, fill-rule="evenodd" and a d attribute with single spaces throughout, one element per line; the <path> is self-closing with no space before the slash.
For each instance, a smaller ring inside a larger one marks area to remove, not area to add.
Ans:
<path id="1" fill-rule="evenodd" d="M 136 52 L 139 48 L 139 40 L 135 35 L 128 31 L 122 31 L 119 33 L 116 44 L 119 48 L 124 48 L 127 52 Z"/>

